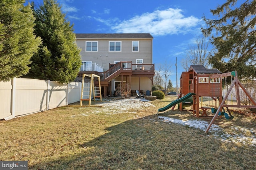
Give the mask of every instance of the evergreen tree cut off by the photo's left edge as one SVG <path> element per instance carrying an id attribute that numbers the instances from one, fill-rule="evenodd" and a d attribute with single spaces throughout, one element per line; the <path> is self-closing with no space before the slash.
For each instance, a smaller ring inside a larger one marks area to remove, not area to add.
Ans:
<path id="1" fill-rule="evenodd" d="M 26 74 L 40 45 L 40 38 L 33 33 L 33 11 L 24 2 L 0 1 L 0 81 Z"/>

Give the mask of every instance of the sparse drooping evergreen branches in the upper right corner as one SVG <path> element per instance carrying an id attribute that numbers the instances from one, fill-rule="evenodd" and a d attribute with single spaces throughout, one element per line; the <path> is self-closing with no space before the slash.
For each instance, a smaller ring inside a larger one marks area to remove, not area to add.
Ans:
<path id="1" fill-rule="evenodd" d="M 256 77 L 256 1 L 246 0 L 235 8 L 236 0 L 227 0 L 211 10 L 217 19 L 206 19 L 205 36 L 212 39 L 216 52 L 209 63 L 221 72 L 237 70 L 239 78 Z"/>

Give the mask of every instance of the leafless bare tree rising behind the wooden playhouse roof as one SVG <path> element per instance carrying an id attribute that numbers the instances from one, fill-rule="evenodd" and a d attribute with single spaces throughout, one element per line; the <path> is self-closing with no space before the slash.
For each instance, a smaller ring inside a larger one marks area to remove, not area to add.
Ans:
<path id="1" fill-rule="evenodd" d="M 203 65 L 205 68 L 209 67 L 208 57 L 212 50 L 208 51 L 209 41 L 205 37 L 197 37 L 196 45 L 191 46 L 186 51 L 186 58 L 182 59 L 182 67 L 188 71 L 190 65 Z"/>

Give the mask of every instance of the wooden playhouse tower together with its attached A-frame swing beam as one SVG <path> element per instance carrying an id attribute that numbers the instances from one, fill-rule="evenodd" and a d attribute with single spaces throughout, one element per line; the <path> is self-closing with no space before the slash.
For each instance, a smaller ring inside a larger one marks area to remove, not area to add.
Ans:
<path id="1" fill-rule="evenodd" d="M 223 97 L 222 81 L 224 80 L 224 78 L 226 81 L 228 76 L 230 76 L 232 83 L 230 88 L 227 90 L 226 95 L 225 96 L 223 95 L 224 96 Z M 250 102 L 252 103 L 252 106 L 241 105 L 239 86 L 243 90 L 243 92 L 246 94 Z M 228 104 L 227 99 L 233 87 L 236 90 L 236 104 L 233 104 L 233 102 L 232 104 Z M 178 102 L 176 103 L 180 104 L 181 110 L 183 109 L 182 102 L 185 101 L 184 97 L 187 96 L 188 94 L 190 94 L 193 100 L 192 108 L 191 108 L 193 112 L 193 116 L 212 118 L 212 121 L 210 122 L 209 127 L 206 129 L 205 133 L 209 131 L 211 125 L 213 124 L 214 120 L 217 117 L 221 117 L 222 115 L 224 115 L 227 119 L 233 118 L 228 107 L 256 108 L 256 102 L 250 96 L 250 94 L 247 92 L 247 90 L 244 88 L 241 82 L 238 80 L 236 71 L 222 73 L 216 68 L 208 69 L 202 65 L 191 65 L 188 72 L 182 72 L 182 75 L 180 77 L 180 97 L 179 99 L 177 99 Z M 215 101 L 215 108 L 202 106 L 203 97 L 212 98 Z M 200 99 L 201 99 L 201 102 L 200 102 Z M 201 103 L 201 106 L 200 106 L 200 103 Z M 226 113 L 224 107 L 226 107 L 226 110 L 228 111 L 229 115 L 228 113 Z M 212 113 L 214 113 L 214 116 L 208 115 L 208 113 L 206 112 L 208 109 L 211 109 Z M 223 111 L 221 111 L 221 109 L 223 109 Z"/>

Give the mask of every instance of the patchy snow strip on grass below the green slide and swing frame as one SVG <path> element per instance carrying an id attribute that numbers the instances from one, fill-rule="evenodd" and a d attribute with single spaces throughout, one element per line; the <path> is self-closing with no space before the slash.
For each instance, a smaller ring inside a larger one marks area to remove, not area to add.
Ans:
<path id="1" fill-rule="evenodd" d="M 207 127 L 209 126 L 209 123 L 207 121 L 203 120 L 180 120 L 180 119 L 174 119 L 170 117 L 164 117 L 164 116 L 158 116 L 159 119 L 161 119 L 164 122 L 172 122 L 184 126 L 190 126 L 197 129 L 201 129 L 203 131 L 206 131 Z M 219 127 L 218 125 L 212 124 L 210 131 L 214 132 L 214 136 L 218 139 L 221 139 L 224 142 L 228 143 L 243 143 L 246 145 L 251 145 L 256 147 L 256 130 L 255 129 L 248 129 L 244 127 L 230 127 L 233 131 L 232 134 L 228 134 L 224 129 Z M 250 134 L 248 136 L 247 134 Z"/>

